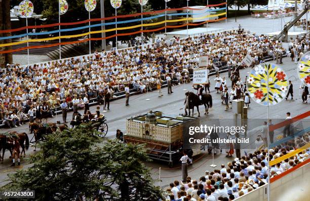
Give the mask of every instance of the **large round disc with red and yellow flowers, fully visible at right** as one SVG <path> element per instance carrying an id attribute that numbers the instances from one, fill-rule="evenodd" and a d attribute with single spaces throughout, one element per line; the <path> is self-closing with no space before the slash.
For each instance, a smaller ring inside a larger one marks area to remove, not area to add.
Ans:
<path id="1" fill-rule="evenodd" d="M 268 101 L 269 106 L 280 103 L 285 98 L 287 89 L 287 75 L 276 64 L 263 63 L 255 66 L 247 79 L 250 97 L 263 106 L 267 106 Z"/>

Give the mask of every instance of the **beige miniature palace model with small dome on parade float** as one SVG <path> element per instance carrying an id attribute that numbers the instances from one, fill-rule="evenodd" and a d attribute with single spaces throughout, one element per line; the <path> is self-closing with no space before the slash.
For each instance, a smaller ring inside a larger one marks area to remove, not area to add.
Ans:
<path id="1" fill-rule="evenodd" d="M 149 111 L 145 115 L 131 117 L 126 121 L 126 135 L 172 143 L 182 139 L 183 125 L 192 121 L 199 126 L 199 118 L 177 116 L 176 118 L 162 116 L 162 112 Z"/>

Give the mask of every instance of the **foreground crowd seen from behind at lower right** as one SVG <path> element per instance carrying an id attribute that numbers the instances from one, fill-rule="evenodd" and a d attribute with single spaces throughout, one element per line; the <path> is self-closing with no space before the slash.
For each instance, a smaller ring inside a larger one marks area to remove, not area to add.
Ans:
<path id="1" fill-rule="evenodd" d="M 289 154 L 309 143 L 310 132 L 298 136 L 269 149 L 269 160 Z M 284 171 L 302 163 L 309 156 L 306 149 L 284 161 L 270 167 L 269 175 L 273 178 Z M 222 164 L 221 169 L 206 171 L 199 179 L 187 177 L 186 182 L 174 181 L 166 189 L 166 200 L 170 201 L 230 201 L 266 184 L 268 176 L 268 149 L 257 149 L 253 154 L 235 158 Z"/>

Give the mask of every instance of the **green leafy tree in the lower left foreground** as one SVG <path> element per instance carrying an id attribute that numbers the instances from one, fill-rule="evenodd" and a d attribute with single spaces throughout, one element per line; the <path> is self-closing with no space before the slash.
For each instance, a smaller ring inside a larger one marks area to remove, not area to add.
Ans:
<path id="1" fill-rule="evenodd" d="M 35 190 L 35 200 L 156 200 L 142 145 L 107 141 L 100 144 L 91 125 L 48 135 L 33 165 L 9 175 L 1 190 Z"/>

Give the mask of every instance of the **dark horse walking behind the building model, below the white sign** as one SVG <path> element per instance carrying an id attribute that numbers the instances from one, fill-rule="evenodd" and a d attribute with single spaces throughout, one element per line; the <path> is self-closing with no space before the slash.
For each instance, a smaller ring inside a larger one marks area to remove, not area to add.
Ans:
<path id="1" fill-rule="evenodd" d="M 198 111 L 198 117 L 200 117 L 199 106 L 202 104 L 205 106 L 205 109 L 206 109 L 205 115 L 209 114 L 209 108 L 212 108 L 212 96 L 211 96 L 211 94 L 209 94 L 209 93 L 202 94 L 202 98 L 201 98 L 202 100 L 199 99 L 198 95 L 196 95 L 195 93 L 190 92 L 190 91 L 187 91 L 185 93 L 185 95 L 188 96 L 189 116 L 190 116 L 190 109 L 192 109 L 192 116 L 193 116 L 193 109 L 196 107 L 197 111 Z M 185 111 L 186 111 L 186 109 L 185 109 Z"/>

